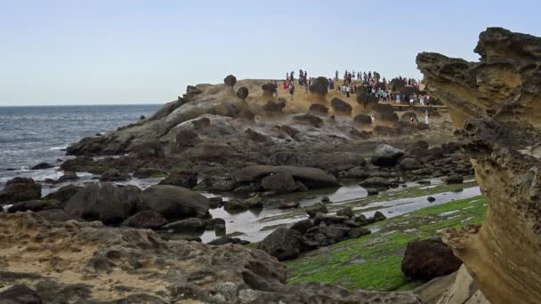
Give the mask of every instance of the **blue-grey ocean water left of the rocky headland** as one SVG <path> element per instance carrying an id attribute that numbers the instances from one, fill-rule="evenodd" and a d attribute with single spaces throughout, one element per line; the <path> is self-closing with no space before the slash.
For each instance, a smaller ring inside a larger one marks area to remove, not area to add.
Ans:
<path id="1" fill-rule="evenodd" d="M 0 189 L 15 176 L 58 178 L 56 170 L 30 171 L 45 162 L 59 165 L 63 151 L 85 136 L 132 124 L 161 105 L 0 107 Z"/>

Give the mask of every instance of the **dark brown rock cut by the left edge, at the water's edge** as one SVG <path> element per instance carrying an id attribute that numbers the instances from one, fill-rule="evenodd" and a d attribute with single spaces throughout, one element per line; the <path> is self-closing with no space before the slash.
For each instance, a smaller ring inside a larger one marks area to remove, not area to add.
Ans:
<path id="1" fill-rule="evenodd" d="M 41 197 L 41 185 L 29 178 L 16 177 L 0 191 L 0 204 L 17 203 Z"/>

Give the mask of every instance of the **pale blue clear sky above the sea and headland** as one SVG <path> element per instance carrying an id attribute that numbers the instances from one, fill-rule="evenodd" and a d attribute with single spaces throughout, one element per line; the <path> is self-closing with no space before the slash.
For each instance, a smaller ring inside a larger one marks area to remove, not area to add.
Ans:
<path id="1" fill-rule="evenodd" d="M 189 84 L 336 69 L 421 78 L 480 31 L 541 36 L 537 1 L 0 0 L 0 106 L 164 103 Z"/>

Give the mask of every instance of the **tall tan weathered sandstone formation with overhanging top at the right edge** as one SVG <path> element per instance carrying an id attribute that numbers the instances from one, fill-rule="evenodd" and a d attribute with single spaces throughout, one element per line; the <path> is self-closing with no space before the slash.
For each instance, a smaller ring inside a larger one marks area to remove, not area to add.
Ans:
<path id="1" fill-rule="evenodd" d="M 443 231 L 492 303 L 541 302 L 541 38 L 488 28 L 480 62 L 420 53 L 432 96 L 448 105 L 488 197 L 482 227 Z"/>

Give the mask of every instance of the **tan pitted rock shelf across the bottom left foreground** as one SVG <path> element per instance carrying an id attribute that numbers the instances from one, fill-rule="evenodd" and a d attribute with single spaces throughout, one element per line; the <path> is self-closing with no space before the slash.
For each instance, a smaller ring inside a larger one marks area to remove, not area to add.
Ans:
<path id="1" fill-rule="evenodd" d="M 420 303 L 410 292 L 286 284 L 284 264 L 238 244 L 166 242 L 148 229 L 31 212 L 0 214 L 0 256 L 0 284 L 28 286 L 6 288 L 3 303 Z"/>

